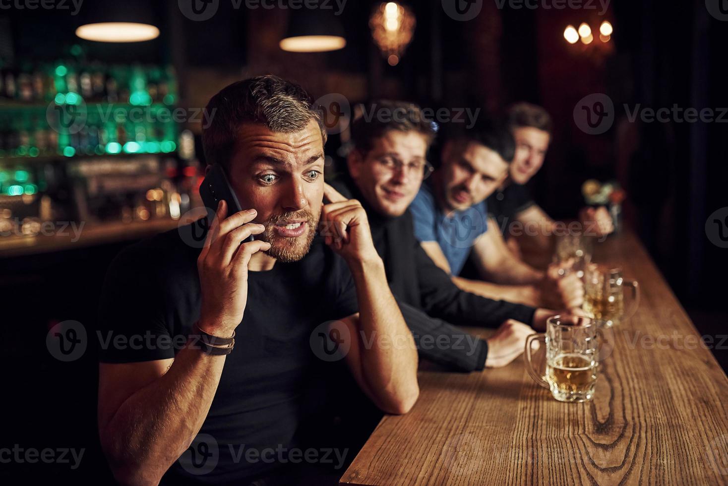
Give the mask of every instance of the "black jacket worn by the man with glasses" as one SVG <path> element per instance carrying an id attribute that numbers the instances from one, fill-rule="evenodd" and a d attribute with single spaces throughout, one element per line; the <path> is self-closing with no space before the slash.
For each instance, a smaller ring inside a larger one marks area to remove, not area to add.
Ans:
<path id="1" fill-rule="evenodd" d="M 471 343 L 476 342 L 475 338 L 449 322 L 497 327 L 506 319 L 515 319 L 531 324 L 533 307 L 460 290 L 414 237 L 409 212 L 398 218 L 380 215 L 346 176 L 333 180 L 331 185 L 344 196 L 359 200 L 366 210 L 374 247 L 384 260 L 389 287 L 422 357 L 458 370 L 482 370 L 488 354 L 485 340 L 478 339 L 473 348 Z"/>

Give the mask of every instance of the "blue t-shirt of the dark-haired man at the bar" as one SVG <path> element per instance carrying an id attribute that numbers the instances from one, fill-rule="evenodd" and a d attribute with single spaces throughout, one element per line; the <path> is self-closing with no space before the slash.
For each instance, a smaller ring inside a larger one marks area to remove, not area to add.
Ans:
<path id="1" fill-rule="evenodd" d="M 438 242 L 453 275 L 459 275 L 470 254 L 470 247 L 488 229 L 486 202 L 479 202 L 451 215 L 440 209 L 432 186 L 422 184 L 409 207 L 414 220 L 414 236 L 420 242 Z"/>

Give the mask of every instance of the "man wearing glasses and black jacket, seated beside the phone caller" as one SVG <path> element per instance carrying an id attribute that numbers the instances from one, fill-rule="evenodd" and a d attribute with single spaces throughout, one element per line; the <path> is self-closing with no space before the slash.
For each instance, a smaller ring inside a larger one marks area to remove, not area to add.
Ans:
<path id="1" fill-rule="evenodd" d="M 555 313 L 464 292 L 432 262 L 414 237 L 407 208 L 432 172 L 426 154 L 435 132 L 416 105 L 379 101 L 369 108 L 374 115 L 368 121 L 360 117 L 352 124 L 349 175 L 332 185 L 365 208 L 389 287 L 420 355 L 461 370 L 507 365 L 534 332 L 527 324 L 544 329 Z M 408 115 L 393 117 L 395 111 Z M 467 346 L 473 337 L 448 322 L 499 329 L 488 340 L 475 341 L 477 346 Z"/>

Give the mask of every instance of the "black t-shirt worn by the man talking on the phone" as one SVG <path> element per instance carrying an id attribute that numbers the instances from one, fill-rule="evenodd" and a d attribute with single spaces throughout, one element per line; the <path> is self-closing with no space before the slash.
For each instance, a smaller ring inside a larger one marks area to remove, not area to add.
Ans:
<path id="1" fill-rule="evenodd" d="M 197 257 L 203 239 L 191 239 L 193 229 L 183 226 L 134 244 L 111 263 L 100 303 L 101 362 L 173 358 L 184 345 L 201 303 Z M 193 442 L 202 455 L 191 464 L 188 459 L 196 458 L 188 450 L 167 471 L 165 481 L 219 484 L 277 467 L 268 460 L 271 453 L 266 461 L 248 462 L 245 452 L 298 447 L 296 431 L 317 412 L 323 383 L 334 369 L 341 373 L 344 367 L 343 360 L 317 358 L 321 350 L 314 351 L 312 332 L 323 322 L 357 311 L 349 268 L 320 236 L 302 260 L 249 272 L 245 316 L 197 436 L 204 447 Z M 199 459 L 213 446 L 217 463 L 210 467 Z"/>

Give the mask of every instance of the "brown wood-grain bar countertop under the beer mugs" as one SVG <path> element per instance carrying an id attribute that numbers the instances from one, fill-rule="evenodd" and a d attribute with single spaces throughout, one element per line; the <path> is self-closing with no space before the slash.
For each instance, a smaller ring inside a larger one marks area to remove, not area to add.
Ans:
<path id="1" fill-rule="evenodd" d="M 414 409 L 384 417 L 341 484 L 728 484 L 728 378 L 708 350 L 728 340 L 700 341 L 631 234 L 596 244 L 594 260 L 621 266 L 642 298 L 609 336 L 591 402 L 557 402 L 523 356 L 470 374 L 421 367 Z"/>

